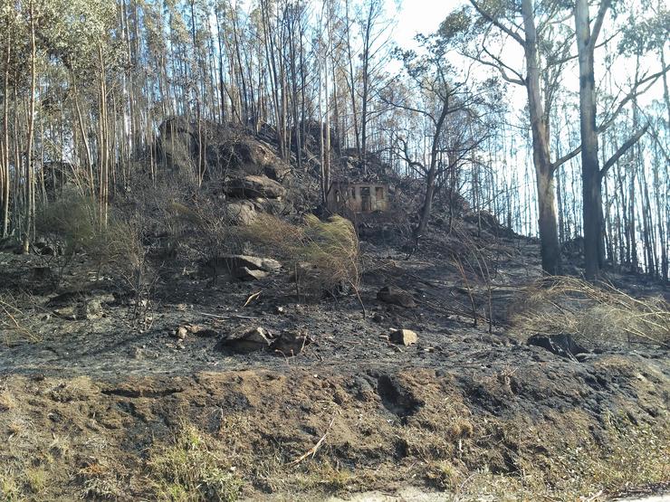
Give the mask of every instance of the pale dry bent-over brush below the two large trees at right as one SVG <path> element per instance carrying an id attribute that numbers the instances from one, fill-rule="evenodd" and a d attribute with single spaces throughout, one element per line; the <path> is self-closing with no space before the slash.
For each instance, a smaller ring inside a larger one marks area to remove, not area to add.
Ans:
<path id="1" fill-rule="evenodd" d="M 522 291 L 512 315 L 523 336 L 570 334 L 582 345 L 670 344 L 670 306 L 663 298 L 633 298 L 608 284 L 560 277 Z"/>

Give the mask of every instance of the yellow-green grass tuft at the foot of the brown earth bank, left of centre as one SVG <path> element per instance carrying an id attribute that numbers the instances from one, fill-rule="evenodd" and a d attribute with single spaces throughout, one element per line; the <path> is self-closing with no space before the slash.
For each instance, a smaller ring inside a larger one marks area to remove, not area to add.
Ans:
<path id="1" fill-rule="evenodd" d="M 224 466 L 200 431 L 184 425 L 171 444 L 150 451 L 149 480 L 160 500 L 231 502 L 242 483 Z"/>

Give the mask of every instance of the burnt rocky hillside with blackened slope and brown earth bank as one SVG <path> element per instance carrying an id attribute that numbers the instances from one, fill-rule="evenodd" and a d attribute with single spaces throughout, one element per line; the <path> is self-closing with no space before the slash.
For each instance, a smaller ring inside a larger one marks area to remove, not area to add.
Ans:
<path id="1" fill-rule="evenodd" d="M 415 193 L 381 163 L 389 213 L 319 220 L 316 159 L 237 128 L 196 186 L 195 137 L 162 128 L 166 174 L 139 169 L 108 230 L 63 178 L 31 252 L 0 252 L 4 499 L 670 488 L 660 285 L 543 278 L 538 242 L 460 200 L 416 242 Z"/>

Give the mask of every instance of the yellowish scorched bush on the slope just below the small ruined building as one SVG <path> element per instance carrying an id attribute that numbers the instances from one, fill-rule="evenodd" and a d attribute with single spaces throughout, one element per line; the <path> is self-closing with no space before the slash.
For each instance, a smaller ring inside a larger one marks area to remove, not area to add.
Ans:
<path id="1" fill-rule="evenodd" d="M 358 235 L 341 216 L 321 222 L 308 214 L 302 225 L 294 225 L 263 215 L 243 232 L 255 245 L 281 254 L 284 263 L 296 270 L 302 294 L 319 296 L 323 291 L 359 287 Z"/>

